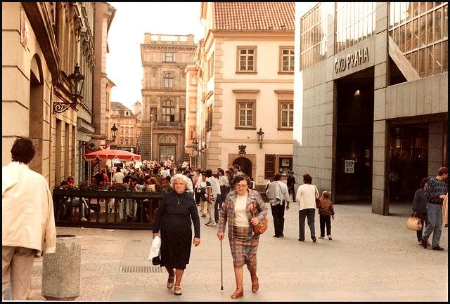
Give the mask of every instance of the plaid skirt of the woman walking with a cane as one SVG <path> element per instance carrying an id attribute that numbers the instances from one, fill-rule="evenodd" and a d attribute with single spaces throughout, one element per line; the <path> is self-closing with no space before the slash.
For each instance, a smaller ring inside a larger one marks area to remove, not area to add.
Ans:
<path id="1" fill-rule="evenodd" d="M 259 235 L 253 235 L 252 226 L 233 226 L 232 237 L 229 237 L 233 266 L 256 267 L 256 252 L 258 250 Z"/>

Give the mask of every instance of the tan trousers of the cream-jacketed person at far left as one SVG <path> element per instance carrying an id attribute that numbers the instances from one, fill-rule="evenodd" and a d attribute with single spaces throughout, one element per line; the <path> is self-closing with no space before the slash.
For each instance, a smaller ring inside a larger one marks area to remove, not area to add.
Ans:
<path id="1" fill-rule="evenodd" d="M 1 246 L 1 298 L 11 282 L 12 300 L 27 300 L 31 289 L 31 275 L 35 249 Z"/>

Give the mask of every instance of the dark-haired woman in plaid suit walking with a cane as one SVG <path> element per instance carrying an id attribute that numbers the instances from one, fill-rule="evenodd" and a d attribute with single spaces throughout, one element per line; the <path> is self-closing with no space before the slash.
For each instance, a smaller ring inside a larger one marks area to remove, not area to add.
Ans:
<path id="1" fill-rule="evenodd" d="M 234 276 L 236 278 L 236 291 L 232 299 L 241 298 L 243 290 L 243 265 L 246 264 L 252 279 L 252 291 L 259 289 L 257 277 L 256 253 L 258 249 L 259 234 L 254 234 L 252 226 L 267 216 L 267 207 L 264 205 L 259 192 L 249 189 L 250 178 L 236 176 L 233 179 L 235 190 L 229 192 L 222 205 L 219 217 L 220 242 L 224 239 L 225 225 L 229 226 L 229 242 L 231 256 L 233 256 Z M 255 213 L 255 217 L 252 214 Z"/>

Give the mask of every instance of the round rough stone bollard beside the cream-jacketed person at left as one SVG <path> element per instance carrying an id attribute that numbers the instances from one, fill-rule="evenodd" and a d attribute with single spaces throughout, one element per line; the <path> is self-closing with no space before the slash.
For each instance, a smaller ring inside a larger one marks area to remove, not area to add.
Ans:
<path id="1" fill-rule="evenodd" d="M 41 293 L 47 300 L 75 300 L 79 297 L 81 238 L 56 235 L 55 253 L 44 254 Z"/>

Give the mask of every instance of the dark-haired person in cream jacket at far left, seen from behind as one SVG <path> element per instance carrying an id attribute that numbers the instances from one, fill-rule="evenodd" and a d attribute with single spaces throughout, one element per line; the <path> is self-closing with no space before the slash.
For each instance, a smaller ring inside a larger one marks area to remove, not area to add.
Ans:
<path id="1" fill-rule="evenodd" d="M 1 168 L 2 298 L 11 283 L 12 300 L 27 300 L 34 257 L 56 250 L 53 199 L 46 179 L 28 164 L 34 157 L 30 138 L 19 137 L 13 161 Z"/>

